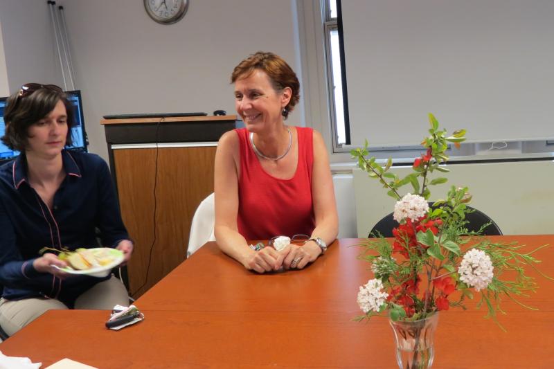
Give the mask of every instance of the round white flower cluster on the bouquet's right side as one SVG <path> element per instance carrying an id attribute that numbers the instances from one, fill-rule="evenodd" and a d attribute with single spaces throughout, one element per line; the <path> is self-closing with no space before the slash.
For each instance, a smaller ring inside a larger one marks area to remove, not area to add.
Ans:
<path id="1" fill-rule="evenodd" d="M 485 251 L 471 249 L 463 255 L 463 260 L 458 268 L 460 280 L 467 285 L 475 287 L 475 291 L 487 288 L 492 282 L 492 262 Z"/>

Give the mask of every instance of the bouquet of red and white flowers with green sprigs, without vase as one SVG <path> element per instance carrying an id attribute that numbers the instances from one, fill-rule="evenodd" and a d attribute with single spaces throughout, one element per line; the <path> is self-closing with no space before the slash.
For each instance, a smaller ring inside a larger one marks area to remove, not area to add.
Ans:
<path id="1" fill-rule="evenodd" d="M 537 288 L 524 266 L 535 269 L 539 260 L 533 253 L 546 245 L 520 253 L 516 244 L 467 237 L 479 235 L 489 225 L 467 230 L 466 215 L 472 211 L 467 207 L 472 198 L 467 188 L 452 186 L 445 199 L 429 206 L 429 188 L 447 182 L 445 177 L 431 179 L 431 174 L 448 172 L 442 165 L 449 159 L 448 145 L 459 148 L 465 140 L 465 130 L 447 136 L 432 114 L 429 123 L 429 135 L 422 142 L 426 152 L 413 161 L 413 172 L 402 179 L 389 172 L 392 159 L 382 166 L 375 157 L 368 158 L 367 141 L 363 148 L 350 152 L 359 168 L 397 200 L 393 217 L 399 223 L 392 242 L 381 237 L 362 245 L 366 252 L 360 258 L 370 262 L 374 278 L 359 287 L 357 303 L 364 315 L 355 320 L 388 312 L 391 321 L 420 321 L 450 307 L 466 309 L 465 301 L 474 298 L 475 291 L 481 294 L 477 307 L 488 307 L 487 316 L 498 323 L 501 298 L 523 305 L 517 297 Z M 411 193 L 401 196 L 400 188 L 407 185 Z M 511 280 L 501 278 L 505 271 L 510 271 Z"/>

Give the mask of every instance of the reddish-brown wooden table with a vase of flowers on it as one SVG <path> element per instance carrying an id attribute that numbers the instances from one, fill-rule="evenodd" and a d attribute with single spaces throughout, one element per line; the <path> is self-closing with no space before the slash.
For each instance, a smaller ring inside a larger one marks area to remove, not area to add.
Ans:
<path id="1" fill-rule="evenodd" d="M 554 244 L 554 235 L 490 238 L 528 249 Z M 335 242 L 303 271 L 268 275 L 244 270 L 209 243 L 136 301 L 145 321 L 115 332 L 103 326 L 108 312 L 50 311 L 0 351 L 98 368 L 395 368 L 386 318 L 351 321 L 360 314 L 358 287 L 370 278 L 368 264 L 356 259 L 358 242 Z M 551 276 L 553 254 L 537 253 Z M 441 312 L 434 368 L 551 368 L 554 282 L 539 285 L 524 300 L 539 311 L 503 304 L 507 333 L 483 319 L 483 309 Z"/>

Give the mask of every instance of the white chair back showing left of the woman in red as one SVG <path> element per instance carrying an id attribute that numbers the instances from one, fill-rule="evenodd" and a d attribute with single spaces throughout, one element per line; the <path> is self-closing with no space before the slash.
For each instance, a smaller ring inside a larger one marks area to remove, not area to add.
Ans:
<path id="1" fill-rule="evenodd" d="M 196 209 L 193 223 L 190 224 L 187 258 L 193 255 L 203 244 L 215 241 L 213 228 L 215 226 L 215 204 L 213 192 L 202 200 Z"/>

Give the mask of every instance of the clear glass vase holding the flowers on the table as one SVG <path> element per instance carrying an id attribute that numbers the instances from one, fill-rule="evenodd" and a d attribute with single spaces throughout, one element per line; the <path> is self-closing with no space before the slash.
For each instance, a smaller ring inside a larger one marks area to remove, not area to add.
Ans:
<path id="1" fill-rule="evenodd" d="M 438 313 L 419 321 L 390 321 L 390 323 L 396 339 L 398 368 L 431 368 L 435 355 L 434 336 Z"/>

